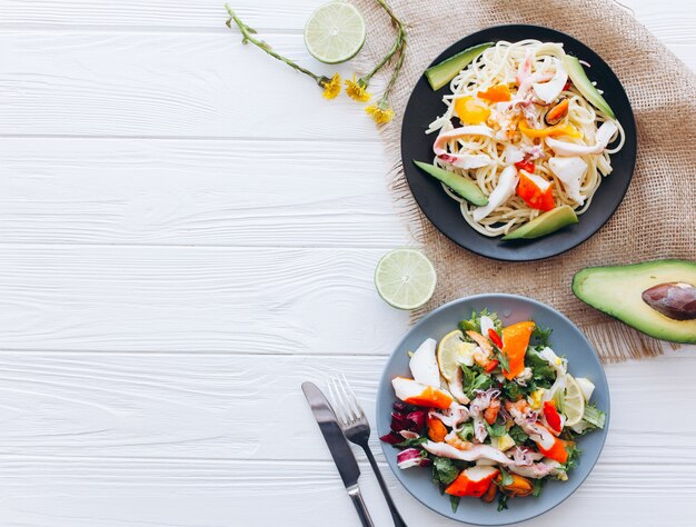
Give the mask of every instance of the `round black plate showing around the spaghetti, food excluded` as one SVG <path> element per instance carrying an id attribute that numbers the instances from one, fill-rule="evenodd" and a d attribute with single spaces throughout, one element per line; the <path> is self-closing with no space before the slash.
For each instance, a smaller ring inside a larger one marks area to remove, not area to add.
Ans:
<path id="1" fill-rule="evenodd" d="M 478 255 L 497 260 L 539 260 L 565 252 L 593 236 L 607 222 L 626 195 L 636 162 L 636 122 L 628 97 L 612 68 L 591 49 L 573 37 L 539 26 L 496 26 L 469 34 L 440 53 L 432 64 L 453 54 L 483 42 L 507 40 L 516 42 L 536 39 L 543 42 L 561 42 L 567 53 L 588 62 L 586 69 L 590 80 L 604 90 L 616 118 L 626 132 L 624 148 L 612 156 L 614 170 L 604 179 L 595 193 L 589 209 L 579 217 L 579 223 L 565 227 L 543 238 L 533 240 L 501 241 L 476 232 L 461 217 L 459 203 L 445 193 L 435 178 L 425 175 L 412 160 L 431 162 L 434 135 L 426 136 L 428 125 L 443 113 L 443 95 L 449 92 L 449 84 L 434 91 L 424 76 L 414 89 L 401 127 L 401 159 L 408 185 L 428 219 L 455 243 Z"/>

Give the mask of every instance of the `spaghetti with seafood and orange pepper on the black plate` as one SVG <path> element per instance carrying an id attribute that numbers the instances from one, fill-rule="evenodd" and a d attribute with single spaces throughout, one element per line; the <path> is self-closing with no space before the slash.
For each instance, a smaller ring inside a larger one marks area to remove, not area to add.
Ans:
<path id="1" fill-rule="evenodd" d="M 533 167 L 535 181 L 541 187 L 550 183 L 556 207 L 568 205 L 577 215 L 585 212 L 601 179 L 612 172 L 610 155 L 622 149 L 624 130 L 617 120 L 595 108 L 577 87 L 567 82 L 564 56 L 563 44 L 537 40 L 499 41 L 484 51 L 451 80 L 451 93 L 443 99 L 446 110 L 428 127 L 426 133 L 437 131 L 440 138 L 436 141 L 440 151 L 436 148 L 435 165 L 470 179 L 488 197 L 506 167 L 516 163 L 518 168 Z M 564 99 L 567 102 L 559 108 L 563 115 L 558 122 L 553 126 L 545 122 L 547 112 Z M 453 123 L 457 119 L 461 128 Z M 609 125 L 598 135 L 605 122 Z M 490 132 L 466 133 L 474 128 L 487 128 Z M 443 137 L 447 132 L 451 133 Z M 547 138 L 551 137 L 554 140 L 549 141 Z M 606 148 L 615 140 L 618 140 L 616 146 Z M 558 141 L 579 151 L 570 156 L 581 159 L 575 162 L 576 172 L 571 177 L 561 171 L 567 160 L 550 162 L 554 158 L 568 158 L 568 152 L 559 155 L 548 145 Z M 464 219 L 485 236 L 506 235 L 543 212 L 524 199 L 518 188 L 476 220 L 477 207 L 443 187 L 459 201 Z M 477 216 L 481 216 L 480 211 Z"/>

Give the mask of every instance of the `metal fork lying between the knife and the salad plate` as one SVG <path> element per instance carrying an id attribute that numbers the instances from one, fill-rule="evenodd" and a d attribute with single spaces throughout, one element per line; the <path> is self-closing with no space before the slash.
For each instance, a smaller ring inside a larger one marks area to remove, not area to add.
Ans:
<path id="1" fill-rule="evenodd" d="M 346 376 L 341 375 L 340 377 L 334 377 L 329 380 L 328 385 L 329 394 L 334 402 L 334 410 L 336 411 L 336 417 L 338 418 L 338 424 L 348 440 L 359 445 L 362 447 L 362 450 L 365 450 L 365 455 L 370 461 L 375 476 L 377 477 L 377 481 L 379 483 L 381 494 L 385 495 L 385 499 L 389 506 L 394 525 L 396 527 L 407 527 L 406 521 L 401 518 L 401 515 L 389 495 L 389 489 L 387 488 L 387 484 L 379 471 L 375 456 L 372 456 L 372 451 L 370 450 L 368 444 L 370 438 L 370 424 L 367 420 L 367 417 L 365 417 L 365 411 L 360 408 L 352 388 L 350 388 L 348 380 L 346 380 Z"/>

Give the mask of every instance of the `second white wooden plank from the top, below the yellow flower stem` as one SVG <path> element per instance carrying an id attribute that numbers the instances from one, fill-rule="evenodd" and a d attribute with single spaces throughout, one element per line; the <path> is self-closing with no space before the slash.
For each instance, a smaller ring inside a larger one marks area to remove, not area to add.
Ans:
<path id="1" fill-rule="evenodd" d="M 301 34 L 270 43 L 317 73 L 336 70 L 308 58 Z M 345 141 L 378 140 L 361 105 L 322 99 L 314 80 L 223 27 L 2 33 L 0 50 L 0 135 L 340 140 L 325 152 L 327 169 Z"/>

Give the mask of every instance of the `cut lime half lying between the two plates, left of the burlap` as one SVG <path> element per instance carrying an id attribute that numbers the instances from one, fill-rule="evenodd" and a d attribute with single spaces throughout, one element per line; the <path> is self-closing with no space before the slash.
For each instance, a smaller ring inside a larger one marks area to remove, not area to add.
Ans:
<path id="1" fill-rule="evenodd" d="M 437 275 L 428 258 L 416 249 L 387 252 L 375 270 L 379 296 L 397 309 L 416 309 L 430 300 Z"/>

